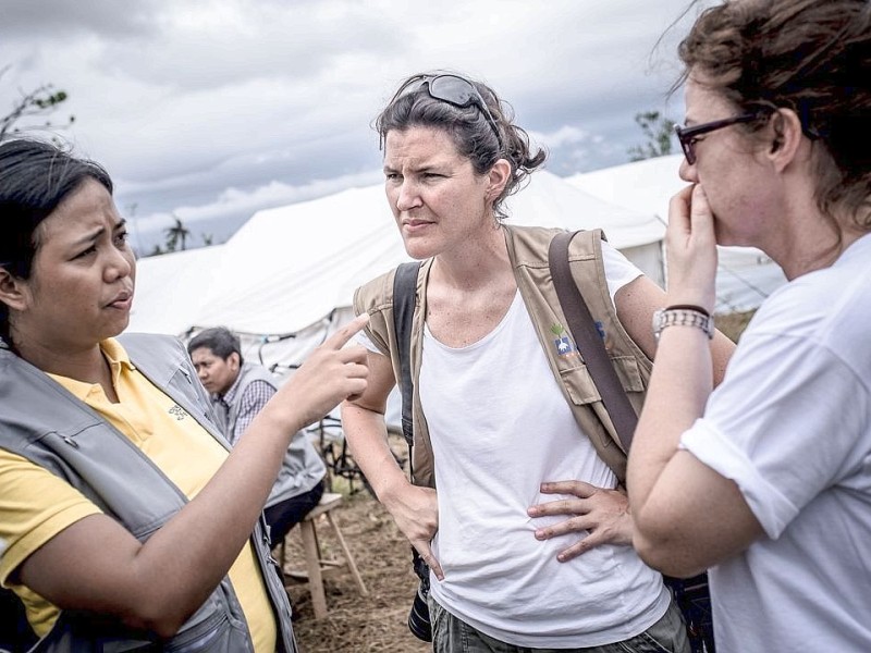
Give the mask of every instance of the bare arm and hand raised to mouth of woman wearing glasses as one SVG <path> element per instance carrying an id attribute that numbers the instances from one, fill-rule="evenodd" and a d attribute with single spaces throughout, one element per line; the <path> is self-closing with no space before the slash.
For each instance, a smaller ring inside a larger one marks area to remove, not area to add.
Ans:
<path id="1" fill-rule="evenodd" d="M 668 301 L 710 309 L 716 249 L 703 190 L 675 196 L 668 222 Z M 704 411 L 713 366 L 701 330 L 670 326 L 662 333 L 629 456 L 635 546 L 648 564 L 676 576 L 723 560 L 762 533 L 737 485 L 678 449 L 680 435 Z"/>

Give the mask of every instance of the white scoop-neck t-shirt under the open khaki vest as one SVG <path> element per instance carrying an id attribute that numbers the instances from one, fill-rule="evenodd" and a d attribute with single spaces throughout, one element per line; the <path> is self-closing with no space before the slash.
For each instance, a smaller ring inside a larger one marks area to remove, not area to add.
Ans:
<path id="1" fill-rule="evenodd" d="M 603 243 L 613 294 L 640 272 Z M 439 489 L 436 600 L 482 632 L 520 646 L 594 646 L 634 637 L 664 613 L 667 591 L 631 546 L 568 563 L 580 533 L 540 542 L 530 519 L 543 481 L 616 479 L 584 435 L 553 378 L 519 293 L 501 323 L 462 348 L 425 330 L 420 398 Z"/>

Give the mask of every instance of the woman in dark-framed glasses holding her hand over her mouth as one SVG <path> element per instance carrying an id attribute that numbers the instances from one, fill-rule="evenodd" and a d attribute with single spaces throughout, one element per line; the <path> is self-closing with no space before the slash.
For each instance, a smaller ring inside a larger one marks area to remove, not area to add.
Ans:
<path id="1" fill-rule="evenodd" d="M 789 283 L 712 392 L 703 333 L 663 329 L 629 457 L 641 556 L 711 567 L 717 651 L 871 651 L 871 3 L 737 0 L 679 46 L 690 185 L 668 301 L 710 309 L 715 244 Z"/>

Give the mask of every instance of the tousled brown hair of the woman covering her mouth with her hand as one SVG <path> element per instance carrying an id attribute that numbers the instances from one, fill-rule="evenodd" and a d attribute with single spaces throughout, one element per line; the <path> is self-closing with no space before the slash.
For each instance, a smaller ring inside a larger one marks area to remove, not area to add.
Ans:
<path id="1" fill-rule="evenodd" d="M 701 72 L 743 111 L 794 110 L 814 140 L 820 210 L 871 229 L 871 2 L 726 0 L 699 15 L 678 56 L 680 82 Z"/>

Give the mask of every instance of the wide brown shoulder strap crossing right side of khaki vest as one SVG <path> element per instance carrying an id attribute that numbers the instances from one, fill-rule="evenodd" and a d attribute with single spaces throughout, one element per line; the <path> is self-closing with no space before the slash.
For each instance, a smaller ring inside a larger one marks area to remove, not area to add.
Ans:
<path id="1" fill-rule="evenodd" d="M 587 370 L 602 397 L 605 410 L 617 431 L 623 449 L 628 453 L 638 416 L 611 365 L 602 336 L 596 329 L 590 309 L 572 278 L 568 264 L 568 244 L 577 232 L 562 232 L 554 236 L 548 250 L 548 263 L 560 306 L 568 322 L 568 330 L 584 356 Z"/>

